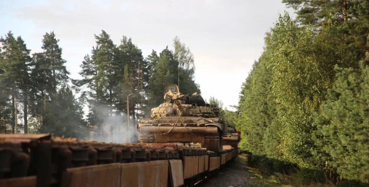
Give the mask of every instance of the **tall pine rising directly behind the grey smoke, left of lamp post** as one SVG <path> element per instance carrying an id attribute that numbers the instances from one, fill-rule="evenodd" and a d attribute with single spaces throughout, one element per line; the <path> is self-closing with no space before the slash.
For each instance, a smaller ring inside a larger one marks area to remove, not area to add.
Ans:
<path id="1" fill-rule="evenodd" d="M 114 118 L 119 108 L 117 102 L 120 93 L 117 88 L 121 84 L 122 70 L 124 69 L 124 56 L 110 39 L 110 36 L 102 30 L 100 35 L 95 35 L 96 46 L 92 49 L 92 55 L 86 55 L 80 67 L 82 80 L 72 80 L 73 84 L 82 91 L 82 100 L 87 100 L 89 106 L 88 124 L 94 126 L 97 135 L 104 135 L 105 125 L 110 127 L 110 135 L 116 124 L 105 124 L 104 120 Z"/>

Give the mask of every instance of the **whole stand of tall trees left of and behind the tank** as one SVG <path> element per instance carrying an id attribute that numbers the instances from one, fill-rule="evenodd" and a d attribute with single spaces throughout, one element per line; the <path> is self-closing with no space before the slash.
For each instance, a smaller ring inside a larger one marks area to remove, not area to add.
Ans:
<path id="1" fill-rule="evenodd" d="M 105 31 L 94 37 L 96 46 L 81 59 L 82 79 L 74 80 L 54 32 L 45 33 L 43 51 L 34 54 L 21 36 L 11 31 L 1 36 L 2 133 L 52 133 L 119 142 L 127 135 L 127 129 L 121 128 L 127 124 L 127 96 L 128 131 L 133 132 L 134 122 L 163 101 L 166 84 L 179 81 L 181 92 L 200 93 L 194 82 L 193 54 L 178 37 L 173 39 L 173 50 L 166 46 L 147 57 L 126 36 L 119 45 Z"/>

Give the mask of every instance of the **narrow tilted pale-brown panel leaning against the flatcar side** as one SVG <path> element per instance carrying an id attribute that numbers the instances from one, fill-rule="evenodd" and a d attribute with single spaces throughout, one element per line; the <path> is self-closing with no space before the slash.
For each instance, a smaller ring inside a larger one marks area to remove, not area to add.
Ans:
<path id="1" fill-rule="evenodd" d="M 169 160 L 169 167 L 172 187 L 182 186 L 184 184 L 182 160 Z"/>

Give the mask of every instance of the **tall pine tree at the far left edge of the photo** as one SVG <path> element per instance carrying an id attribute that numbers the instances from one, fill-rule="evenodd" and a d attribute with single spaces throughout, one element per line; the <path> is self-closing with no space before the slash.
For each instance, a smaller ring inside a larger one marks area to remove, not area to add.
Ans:
<path id="1" fill-rule="evenodd" d="M 11 132 L 14 133 L 19 130 L 17 103 L 23 100 L 24 111 L 27 113 L 27 92 L 30 88 L 30 50 L 27 49 L 24 40 L 20 36 L 15 38 L 11 31 L 5 38 L 1 36 L 0 42 L 3 49 L 0 61 L 0 87 L 6 90 L 0 93 L 4 104 L 1 107 L 0 124 L 1 130 L 7 131 L 7 124 L 10 123 Z M 24 126 L 27 127 L 27 115 L 24 119 Z"/>

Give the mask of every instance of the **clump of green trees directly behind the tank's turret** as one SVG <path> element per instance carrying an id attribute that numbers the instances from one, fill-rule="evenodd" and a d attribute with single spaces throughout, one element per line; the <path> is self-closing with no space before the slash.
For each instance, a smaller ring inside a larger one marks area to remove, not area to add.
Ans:
<path id="1" fill-rule="evenodd" d="M 148 89 L 149 106 L 156 107 L 163 102 L 164 89 L 167 84 L 177 84 L 181 93 L 201 93 L 199 85 L 194 82 L 193 54 L 189 48 L 174 39 L 174 51 L 168 46 L 158 55 L 154 50 L 148 56 L 151 66 Z M 179 82 L 178 82 L 179 81 Z"/>

